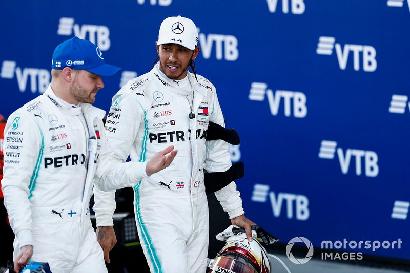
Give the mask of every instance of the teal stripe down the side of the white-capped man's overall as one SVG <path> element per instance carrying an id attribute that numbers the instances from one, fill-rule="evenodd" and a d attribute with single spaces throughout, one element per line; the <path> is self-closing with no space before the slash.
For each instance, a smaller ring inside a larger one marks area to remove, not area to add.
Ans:
<path id="1" fill-rule="evenodd" d="M 139 102 L 138 102 L 139 104 Z M 144 107 L 141 106 L 141 104 L 139 104 L 139 106 L 141 107 L 142 111 L 144 111 L 144 127 L 145 127 L 145 131 L 144 131 L 144 138 L 142 139 L 142 151 L 141 151 L 141 155 L 139 158 L 139 162 L 144 162 L 146 159 L 146 155 L 147 155 L 147 140 L 148 140 L 148 121 L 147 121 L 147 112 L 145 111 Z M 155 251 L 155 247 L 151 241 L 151 237 L 148 233 L 147 228 L 144 225 L 144 221 L 142 220 L 141 217 L 141 213 L 140 213 L 140 205 L 139 205 L 139 192 L 138 192 L 138 188 L 141 185 L 141 181 L 139 181 L 133 188 L 134 188 L 134 206 L 135 206 L 135 220 L 138 223 L 138 226 L 140 227 L 140 231 L 142 234 L 142 239 L 144 239 L 144 243 L 146 245 L 147 248 L 147 253 L 149 255 L 149 259 L 151 260 L 151 263 L 154 267 L 154 272 L 157 273 L 161 273 L 162 272 L 162 268 L 161 268 L 161 263 L 159 262 L 159 258 L 156 254 Z"/>

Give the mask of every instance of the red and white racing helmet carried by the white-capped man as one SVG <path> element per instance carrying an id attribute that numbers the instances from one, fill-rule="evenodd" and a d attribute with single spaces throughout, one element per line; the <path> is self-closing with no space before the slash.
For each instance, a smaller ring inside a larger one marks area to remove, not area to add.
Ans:
<path id="1" fill-rule="evenodd" d="M 216 236 L 218 240 L 226 240 L 227 244 L 210 261 L 210 273 L 270 273 L 268 253 L 256 239 L 256 232 L 252 230 L 254 240 L 250 242 L 245 233 L 233 232 L 235 228 L 238 227 L 231 225 Z"/>

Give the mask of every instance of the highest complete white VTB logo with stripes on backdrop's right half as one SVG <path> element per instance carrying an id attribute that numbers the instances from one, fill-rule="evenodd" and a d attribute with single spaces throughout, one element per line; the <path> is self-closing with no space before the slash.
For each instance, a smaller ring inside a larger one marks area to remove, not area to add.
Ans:
<path id="1" fill-rule="evenodd" d="M 345 44 L 342 46 L 335 43 L 335 37 L 320 36 L 316 54 L 332 55 L 333 48 L 336 50 L 337 60 L 341 70 L 345 70 L 350 52 L 353 52 L 353 69 L 360 70 L 360 55 L 362 55 L 362 67 L 365 72 L 374 72 L 377 69 L 376 49 L 372 46 Z"/>

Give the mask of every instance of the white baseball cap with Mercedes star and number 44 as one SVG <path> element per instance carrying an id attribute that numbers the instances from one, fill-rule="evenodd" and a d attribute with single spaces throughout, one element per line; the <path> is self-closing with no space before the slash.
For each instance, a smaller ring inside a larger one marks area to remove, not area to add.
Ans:
<path id="1" fill-rule="evenodd" d="M 162 21 L 159 28 L 157 45 L 178 44 L 190 50 L 198 45 L 198 30 L 191 19 L 168 17 Z"/>

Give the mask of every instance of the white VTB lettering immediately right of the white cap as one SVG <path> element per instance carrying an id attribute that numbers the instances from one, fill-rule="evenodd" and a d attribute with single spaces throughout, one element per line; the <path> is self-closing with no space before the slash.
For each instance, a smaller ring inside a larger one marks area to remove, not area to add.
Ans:
<path id="1" fill-rule="evenodd" d="M 199 30 L 198 30 L 199 32 Z M 233 35 L 199 33 L 199 41 L 204 59 L 211 57 L 212 48 L 215 41 L 215 57 L 217 60 L 234 61 L 239 57 L 238 39 Z"/>

